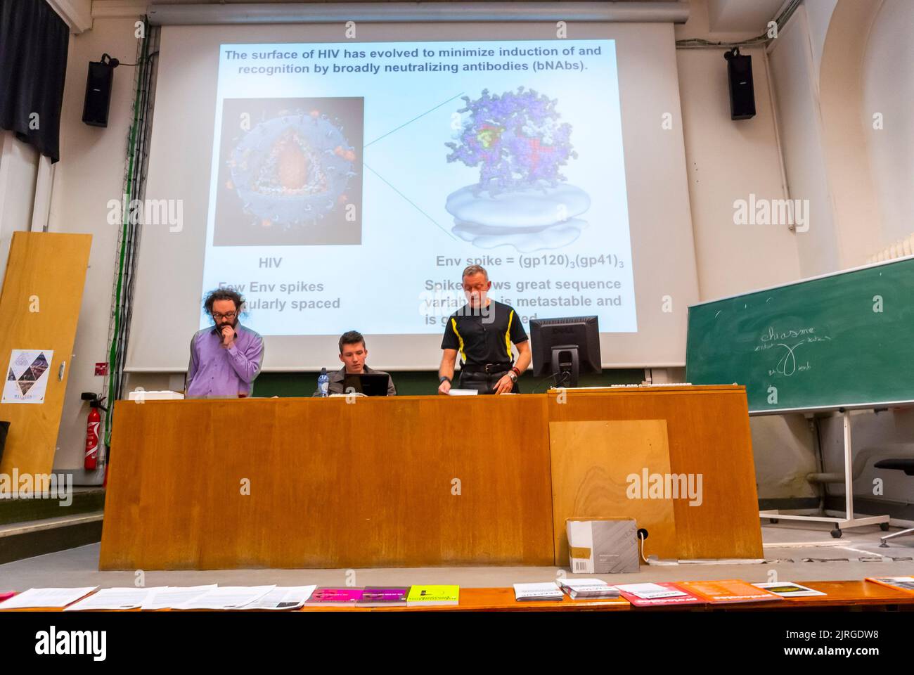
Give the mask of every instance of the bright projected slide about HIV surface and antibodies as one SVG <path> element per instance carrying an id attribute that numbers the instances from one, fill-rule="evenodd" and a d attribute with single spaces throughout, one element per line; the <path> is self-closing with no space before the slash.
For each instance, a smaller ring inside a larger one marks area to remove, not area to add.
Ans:
<path id="1" fill-rule="evenodd" d="M 638 330 L 615 40 L 222 44 L 215 110 L 201 292 L 260 334 L 440 334 L 473 263 Z"/>

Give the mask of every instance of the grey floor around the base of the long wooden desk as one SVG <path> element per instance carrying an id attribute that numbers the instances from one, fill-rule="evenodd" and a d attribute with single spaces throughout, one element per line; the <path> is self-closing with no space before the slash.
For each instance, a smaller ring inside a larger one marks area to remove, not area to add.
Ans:
<path id="1" fill-rule="evenodd" d="M 878 527 L 845 530 L 833 539 L 818 523 L 762 524 L 765 562 L 751 564 L 642 565 L 639 573 L 603 575 L 612 583 L 743 579 L 762 581 L 845 581 L 866 576 L 914 575 L 914 536 L 891 540 L 881 549 Z M 898 531 L 892 528 L 891 531 Z M 650 540 L 645 553 L 650 555 Z M 876 560 L 868 560 L 875 558 Z M 802 562 L 818 559 L 824 562 Z M 792 562 L 790 562 L 792 561 Z M 99 572 L 99 544 L 0 565 L 0 591 L 32 587 L 133 586 L 135 572 Z M 413 567 L 356 570 L 209 570 L 143 572 L 143 585 L 409 585 L 509 586 L 555 579 L 561 567 Z M 592 575 L 587 575 L 592 576 Z"/>

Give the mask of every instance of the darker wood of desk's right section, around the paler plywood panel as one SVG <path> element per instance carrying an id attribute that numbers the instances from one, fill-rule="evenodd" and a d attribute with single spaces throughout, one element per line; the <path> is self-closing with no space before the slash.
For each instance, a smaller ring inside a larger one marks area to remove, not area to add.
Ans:
<path id="1" fill-rule="evenodd" d="M 688 499 L 674 500 L 676 557 L 762 557 L 759 498 L 745 388 L 569 390 L 550 391 L 548 396 L 550 422 L 666 420 L 670 471 L 702 475 L 700 506 L 689 506 Z M 562 396 L 564 399 L 559 398 Z M 558 491 L 562 487 L 553 486 L 553 489 Z M 644 548 L 645 554 L 654 552 L 650 539 L 645 541 Z M 657 553 L 661 557 L 673 557 Z"/>

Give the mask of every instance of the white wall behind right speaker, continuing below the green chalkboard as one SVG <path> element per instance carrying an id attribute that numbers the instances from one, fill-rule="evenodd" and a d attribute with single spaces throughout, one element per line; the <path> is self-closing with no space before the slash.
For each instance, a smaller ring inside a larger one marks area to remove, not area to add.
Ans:
<path id="1" fill-rule="evenodd" d="M 705 0 L 693 0 L 689 20 L 676 38 L 716 42 L 754 37 L 710 33 Z M 685 159 L 698 286 L 702 300 L 786 284 L 802 276 L 796 239 L 783 225 L 736 225 L 735 199 L 786 198 L 768 60 L 762 48 L 752 57 L 756 116 L 730 119 L 727 61 L 723 48 L 679 49 Z M 802 415 L 753 417 L 749 421 L 760 498 L 813 498 L 805 475 L 817 471 L 813 438 Z"/>

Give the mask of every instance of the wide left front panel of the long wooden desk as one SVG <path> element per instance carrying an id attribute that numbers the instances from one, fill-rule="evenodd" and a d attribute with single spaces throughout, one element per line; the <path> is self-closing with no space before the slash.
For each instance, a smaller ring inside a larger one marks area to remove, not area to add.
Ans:
<path id="1" fill-rule="evenodd" d="M 100 568 L 551 564 L 545 408 L 117 402 Z"/>

